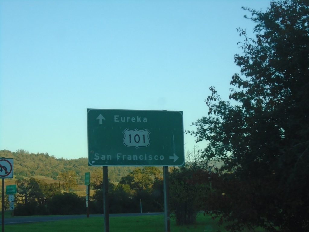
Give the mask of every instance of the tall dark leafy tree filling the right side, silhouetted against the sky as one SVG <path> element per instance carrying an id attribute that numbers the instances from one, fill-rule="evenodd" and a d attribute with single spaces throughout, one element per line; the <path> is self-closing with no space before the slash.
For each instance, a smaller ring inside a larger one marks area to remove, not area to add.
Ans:
<path id="1" fill-rule="evenodd" d="M 222 170 L 252 195 L 250 205 L 240 201 L 238 208 L 250 207 L 256 218 L 226 207 L 231 220 L 309 231 L 309 2 L 271 1 L 266 12 L 245 10 L 256 23 L 255 37 L 239 29 L 244 41 L 235 55 L 241 75 L 231 80 L 234 101 L 223 101 L 211 87 L 208 116 L 190 132 L 209 141 L 205 159 L 222 159 Z"/>

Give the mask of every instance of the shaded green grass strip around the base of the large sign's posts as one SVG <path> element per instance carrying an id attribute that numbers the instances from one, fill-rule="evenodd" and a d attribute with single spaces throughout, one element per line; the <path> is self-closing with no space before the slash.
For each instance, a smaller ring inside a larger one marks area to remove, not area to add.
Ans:
<path id="1" fill-rule="evenodd" d="M 9 232 L 103 232 L 103 217 L 89 217 L 82 219 L 70 219 L 50 222 L 35 222 L 17 225 L 5 225 L 5 231 Z M 110 217 L 109 230 L 111 232 L 164 232 L 164 216 L 136 216 L 136 217 Z M 176 226 L 176 222 L 171 219 L 171 232 L 216 232 L 223 227 L 218 227 L 217 223 L 210 217 L 200 215 L 197 223 L 192 226 Z"/>

